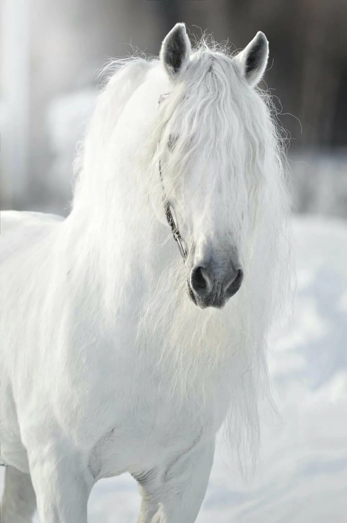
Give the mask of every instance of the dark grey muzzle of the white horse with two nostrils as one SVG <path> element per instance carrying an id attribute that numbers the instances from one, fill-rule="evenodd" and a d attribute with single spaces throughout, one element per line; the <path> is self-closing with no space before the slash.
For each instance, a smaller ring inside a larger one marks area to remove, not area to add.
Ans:
<path id="1" fill-rule="evenodd" d="M 207 265 L 195 265 L 187 279 L 189 298 L 200 307 L 221 309 L 240 289 L 243 271 L 230 261 L 219 266 L 211 260 Z"/>

